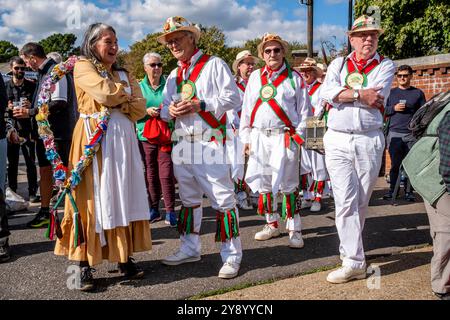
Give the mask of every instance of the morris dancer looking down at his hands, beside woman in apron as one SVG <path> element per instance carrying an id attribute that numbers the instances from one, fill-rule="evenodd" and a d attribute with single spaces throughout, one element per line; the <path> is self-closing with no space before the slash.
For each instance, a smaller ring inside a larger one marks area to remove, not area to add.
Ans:
<path id="1" fill-rule="evenodd" d="M 178 60 L 178 68 L 166 81 L 161 118 L 176 118 L 179 142 L 172 160 L 183 204 L 178 218 L 180 249 L 162 262 L 179 265 L 200 260 L 202 197 L 206 194 L 217 211 L 216 241 L 221 242 L 223 262 L 219 277 L 234 278 L 242 247 L 233 182 L 224 159 L 224 115 L 239 106 L 241 99 L 226 63 L 199 50 L 199 39 L 200 30 L 182 17 L 168 18 L 157 39 Z"/>

